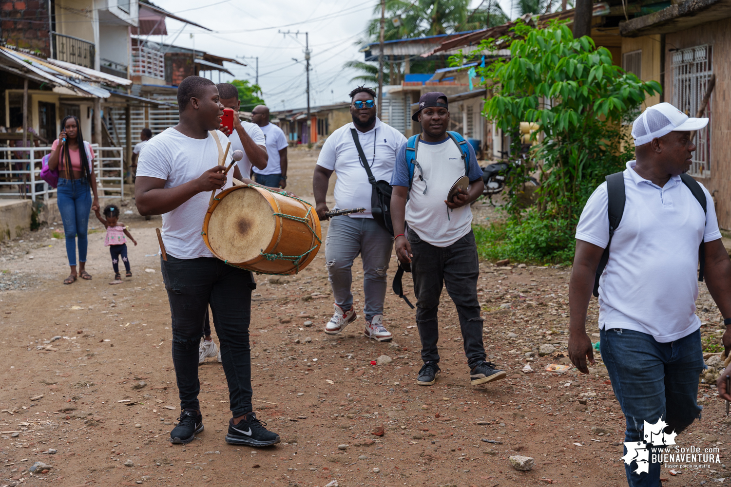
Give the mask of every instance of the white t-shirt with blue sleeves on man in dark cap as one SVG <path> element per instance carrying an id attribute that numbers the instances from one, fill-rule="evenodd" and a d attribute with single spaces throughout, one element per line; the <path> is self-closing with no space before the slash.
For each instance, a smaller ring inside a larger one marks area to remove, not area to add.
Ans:
<path id="1" fill-rule="evenodd" d="M 452 185 L 466 175 L 470 181 L 482 177 L 482 169 L 477 164 L 474 148 L 469 148 L 469 174 L 465 174 L 462 151 L 450 137 L 441 142 L 417 144 L 412 188 L 406 202 L 406 223 L 424 242 L 435 247 L 449 247 L 469 234 L 472 223 L 470 205 L 455 208 L 447 207 L 447 199 Z M 409 187 L 409 165 L 406 164 L 406 144 L 398 151 L 396 166 L 391 176 L 391 185 Z"/>

